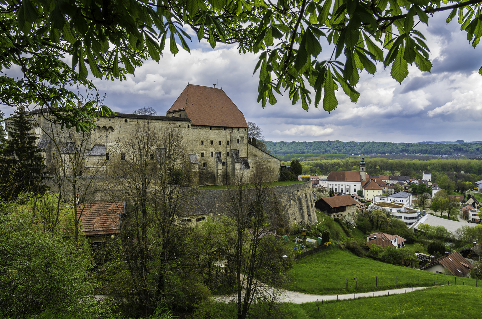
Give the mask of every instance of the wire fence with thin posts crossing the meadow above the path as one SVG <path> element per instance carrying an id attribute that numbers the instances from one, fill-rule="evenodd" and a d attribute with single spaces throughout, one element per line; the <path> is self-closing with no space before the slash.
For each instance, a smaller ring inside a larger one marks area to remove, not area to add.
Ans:
<path id="1" fill-rule="evenodd" d="M 427 275 L 432 274 L 428 273 Z M 292 283 L 291 289 L 303 293 L 330 294 L 380 291 L 404 287 L 429 287 L 440 285 L 464 285 L 479 287 L 477 279 L 454 276 L 366 276 L 366 277 L 323 277 L 316 280 L 298 276 Z M 481 282 L 482 284 L 482 282 Z"/>

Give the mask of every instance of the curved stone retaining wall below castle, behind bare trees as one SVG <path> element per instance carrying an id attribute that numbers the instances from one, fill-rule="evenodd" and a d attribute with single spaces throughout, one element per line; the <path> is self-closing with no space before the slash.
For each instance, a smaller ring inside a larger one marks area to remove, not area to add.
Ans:
<path id="1" fill-rule="evenodd" d="M 282 210 L 289 222 L 317 222 L 311 182 L 275 187 Z M 200 190 L 196 199 L 206 208 L 209 216 L 219 217 L 224 213 L 224 198 L 227 190 Z"/>

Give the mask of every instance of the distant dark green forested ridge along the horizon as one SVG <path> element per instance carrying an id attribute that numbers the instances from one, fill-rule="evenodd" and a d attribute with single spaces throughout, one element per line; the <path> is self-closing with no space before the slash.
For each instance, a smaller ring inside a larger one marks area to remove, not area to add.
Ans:
<path id="1" fill-rule="evenodd" d="M 479 156 L 482 143 L 392 143 L 392 142 L 343 142 L 327 140 L 312 142 L 265 141 L 268 150 L 277 155 L 284 154 L 429 154 Z"/>

